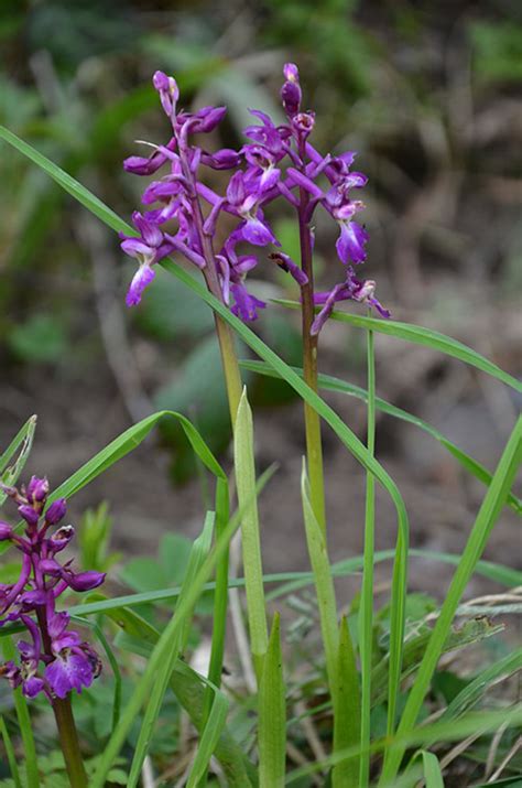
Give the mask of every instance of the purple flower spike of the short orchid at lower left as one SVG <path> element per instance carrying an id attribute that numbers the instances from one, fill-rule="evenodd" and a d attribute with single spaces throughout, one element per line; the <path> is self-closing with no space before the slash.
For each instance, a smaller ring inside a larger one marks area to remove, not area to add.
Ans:
<path id="1" fill-rule="evenodd" d="M 0 676 L 11 686 L 22 687 L 24 695 L 44 692 L 51 701 L 72 690 L 90 687 L 101 663 L 93 647 L 68 628 L 69 615 L 56 612 L 56 600 L 66 589 L 90 591 L 105 580 L 101 572 L 74 572 L 72 561 L 61 563 L 57 553 L 74 536 L 73 526 L 56 526 L 65 517 L 64 498 L 45 505 L 46 478 L 33 476 L 26 487 L 3 487 L 18 504 L 25 521 L 24 536 L 0 521 L 0 541 L 10 541 L 22 553 L 22 568 L 15 583 L 0 584 L 0 626 L 20 622 L 30 641 L 19 640 L 20 665 L 0 666 Z"/>

